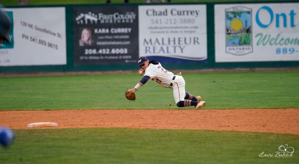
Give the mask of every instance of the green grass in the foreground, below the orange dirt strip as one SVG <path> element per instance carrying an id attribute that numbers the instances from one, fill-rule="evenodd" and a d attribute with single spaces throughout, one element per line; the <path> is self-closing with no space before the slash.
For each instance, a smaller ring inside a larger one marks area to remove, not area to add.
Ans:
<path id="1" fill-rule="evenodd" d="M 0 148 L 1 163 L 297 163 L 298 136 L 252 132 L 167 129 L 15 130 L 16 140 Z M 291 158 L 276 154 L 280 145 Z"/>

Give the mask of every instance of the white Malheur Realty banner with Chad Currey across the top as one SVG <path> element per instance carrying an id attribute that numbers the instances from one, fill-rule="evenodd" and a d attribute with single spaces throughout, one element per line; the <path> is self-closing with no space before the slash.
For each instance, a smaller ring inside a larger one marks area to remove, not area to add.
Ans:
<path id="1" fill-rule="evenodd" d="M 206 5 L 139 6 L 139 55 L 161 62 L 206 62 Z"/>

